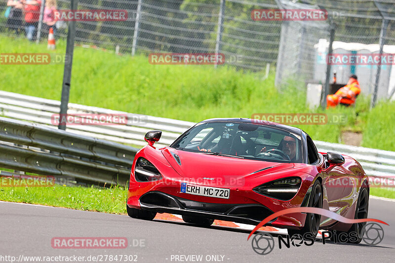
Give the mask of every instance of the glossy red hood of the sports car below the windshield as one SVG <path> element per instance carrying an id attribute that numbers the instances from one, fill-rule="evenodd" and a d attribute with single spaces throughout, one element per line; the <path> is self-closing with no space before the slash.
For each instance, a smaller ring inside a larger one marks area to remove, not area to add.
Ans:
<path id="1" fill-rule="evenodd" d="M 179 156 L 181 165 L 172 155 Z M 218 177 L 257 177 L 263 174 L 272 173 L 283 169 L 294 167 L 293 163 L 266 162 L 259 160 L 240 159 L 234 157 L 204 154 L 200 152 L 190 152 L 165 148 L 162 154 L 173 167 L 173 169 L 183 177 L 190 179 L 218 178 Z"/>

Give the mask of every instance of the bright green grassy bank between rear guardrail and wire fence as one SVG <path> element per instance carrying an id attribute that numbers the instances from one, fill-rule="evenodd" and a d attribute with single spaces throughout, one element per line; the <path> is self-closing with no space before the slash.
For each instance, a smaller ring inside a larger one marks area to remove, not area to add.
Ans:
<path id="1" fill-rule="evenodd" d="M 0 53 L 65 52 L 57 41 L 56 51 L 45 43 L 0 36 Z M 0 89 L 59 100 L 63 64 L 0 65 Z M 73 59 L 70 102 L 130 113 L 148 114 L 198 122 L 212 117 L 250 117 L 253 113 L 322 113 L 306 105 L 304 83 L 292 83 L 279 93 L 275 74 L 236 71 L 229 67 L 151 65 L 145 56 L 117 56 L 76 47 Z M 355 108 L 337 108 L 326 113 L 347 116 L 333 125 L 299 125 L 314 140 L 338 143 L 343 130 L 363 134 L 362 146 L 395 150 L 394 103 L 380 102 L 369 110 L 369 98 L 359 96 Z"/>

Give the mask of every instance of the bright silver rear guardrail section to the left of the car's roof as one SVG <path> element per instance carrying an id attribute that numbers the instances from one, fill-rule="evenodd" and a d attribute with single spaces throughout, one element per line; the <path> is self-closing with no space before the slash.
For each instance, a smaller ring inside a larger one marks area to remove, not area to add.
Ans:
<path id="1" fill-rule="evenodd" d="M 60 101 L 42 99 L 12 92 L 0 91 L 0 115 L 27 120 L 55 127 L 51 116 L 59 114 Z M 161 130 L 158 146 L 170 145 L 181 133 L 194 125 L 193 122 L 125 113 L 98 107 L 69 103 L 69 114 L 126 114 L 126 125 L 67 125 L 67 130 L 84 136 L 113 141 L 122 144 L 145 146 L 144 135 L 150 130 Z"/>

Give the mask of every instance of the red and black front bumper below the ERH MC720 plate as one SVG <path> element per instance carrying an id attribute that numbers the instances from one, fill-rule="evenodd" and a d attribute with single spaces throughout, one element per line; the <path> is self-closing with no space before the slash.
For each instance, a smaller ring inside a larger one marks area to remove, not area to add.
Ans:
<path id="1" fill-rule="evenodd" d="M 134 178 L 131 177 L 127 196 L 127 205 L 131 208 L 177 215 L 199 215 L 249 225 L 257 225 L 267 216 L 283 209 L 300 207 L 309 187 L 306 184 L 306 187 L 302 186 L 306 189 L 300 191 L 293 199 L 281 201 L 260 195 L 248 186 L 221 186 L 231 189 L 231 199 L 220 199 L 181 193 L 181 182 L 189 183 L 185 178 L 173 178 L 171 184 L 161 181 L 133 181 Z M 306 214 L 293 213 L 280 216 L 267 225 L 300 229 L 304 226 L 305 220 Z"/>

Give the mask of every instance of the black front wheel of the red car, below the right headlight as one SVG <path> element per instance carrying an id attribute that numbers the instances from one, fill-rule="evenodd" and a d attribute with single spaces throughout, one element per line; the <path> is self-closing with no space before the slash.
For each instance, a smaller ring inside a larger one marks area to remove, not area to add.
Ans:
<path id="1" fill-rule="evenodd" d="M 313 185 L 312 193 L 309 199 L 309 207 L 322 208 L 322 187 L 318 180 Z M 305 226 L 302 229 L 288 229 L 288 235 L 301 235 L 312 233 L 313 238 L 318 234 L 321 215 L 308 213 L 306 216 Z"/>

